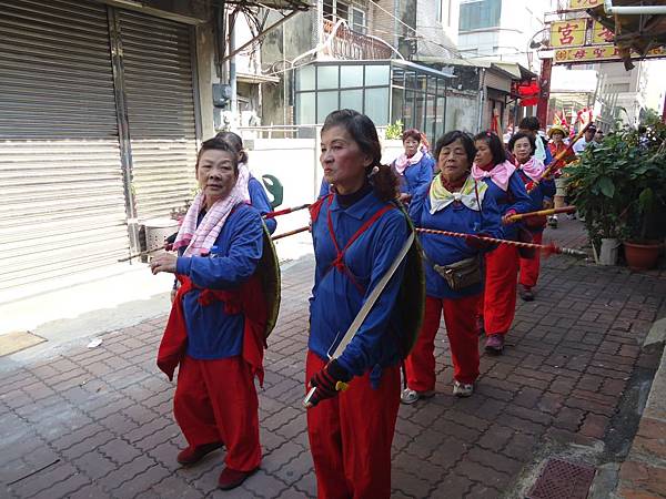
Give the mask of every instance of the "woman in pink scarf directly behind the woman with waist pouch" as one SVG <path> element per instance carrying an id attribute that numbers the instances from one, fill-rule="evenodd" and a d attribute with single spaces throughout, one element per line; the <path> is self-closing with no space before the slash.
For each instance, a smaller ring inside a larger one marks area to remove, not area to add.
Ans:
<path id="1" fill-rule="evenodd" d="M 516 173 L 515 165 L 507 161 L 504 145 L 496 134 L 477 134 L 474 146 L 476 156 L 472 176 L 487 184 L 487 195 L 495 200 L 502 214 L 504 238 L 516 241 L 518 227 L 511 224 L 508 217 L 532 210 L 525 184 Z M 485 349 L 491 354 L 501 354 L 504 336 L 516 312 L 518 249 L 509 244 L 501 244 L 486 254 L 485 263 L 483 313 L 480 314 L 486 334 Z"/>

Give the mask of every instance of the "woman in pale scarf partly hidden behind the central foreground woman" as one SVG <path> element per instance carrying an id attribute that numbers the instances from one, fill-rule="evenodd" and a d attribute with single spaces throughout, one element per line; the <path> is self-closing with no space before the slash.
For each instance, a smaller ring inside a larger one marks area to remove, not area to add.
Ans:
<path id="1" fill-rule="evenodd" d="M 422 144 L 424 139 L 418 130 L 405 130 L 402 140 L 405 152 L 393 161 L 393 169 L 400 179 L 400 201 L 408 203 L 432 180 L 435 161 Z"/>

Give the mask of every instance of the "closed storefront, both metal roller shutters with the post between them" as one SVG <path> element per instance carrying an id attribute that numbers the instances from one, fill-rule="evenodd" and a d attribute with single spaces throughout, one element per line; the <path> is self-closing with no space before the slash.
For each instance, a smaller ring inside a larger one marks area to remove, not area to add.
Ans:
<path id="1" fill-rule="evenodd" d="M 0 0 L 0 288 L 99 268 L 191 197 L 192 24 Z"/>

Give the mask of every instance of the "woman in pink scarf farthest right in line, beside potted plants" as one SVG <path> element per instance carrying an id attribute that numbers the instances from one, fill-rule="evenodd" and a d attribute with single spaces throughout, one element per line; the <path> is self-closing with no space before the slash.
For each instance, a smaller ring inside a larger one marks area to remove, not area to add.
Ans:
<path id="1" fill-rule="evenodd" d="M 541 140 L 541 139 L 538 139 Z M 516 171 L 525 190 L 532 197 L 532 211 L 543 210 L 545 205 L 551 205 L 555 195 L 555 182 L 553 179 L 544 179 L 544 164 L 534 156 L 536 142 L 533 135 L 518 132 L 508 141 L 508 150 L 515 159 Z M 534 216 L 525 220 L 525 227 L 532 233 L 532 241 L 541 244 L 544 228 L 546 227 L 546 217 Z M 521 255 L 521 274 L 518 277 L 518 294 L 525 302 L 534 299 L 533 288 L 538 279 L 538 269 L 541 255 L 533 252 L 532 257 Z"/>

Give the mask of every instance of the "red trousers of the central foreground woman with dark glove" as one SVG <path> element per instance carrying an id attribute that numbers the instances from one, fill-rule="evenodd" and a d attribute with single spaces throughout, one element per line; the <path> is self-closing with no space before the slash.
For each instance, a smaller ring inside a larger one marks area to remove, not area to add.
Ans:
<path id="1" fill-rule="evenodd" d="M 307 380 L 324 361 L 307 352 Z M 346 391 L 307 409 L 307 435 L 319 499 L 389 499 L 391 444 L 400 406 L 400 368 L 382 370 L 377 389 L 370 375 Z"/>

